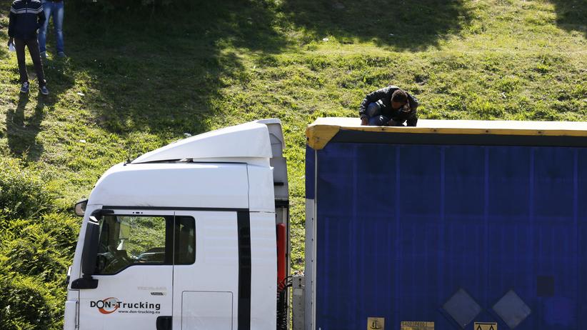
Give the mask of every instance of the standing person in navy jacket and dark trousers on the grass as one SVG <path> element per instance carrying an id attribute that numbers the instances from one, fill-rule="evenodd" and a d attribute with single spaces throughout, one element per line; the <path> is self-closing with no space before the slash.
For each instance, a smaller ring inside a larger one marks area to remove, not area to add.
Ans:
<path id="1" fill-rule="evenodd" d="M 36 80 L 39 82 L 39 91 L 43 95 L 49 94 L 43 63 L 39 54 L 39 42 L 36 40 L 36 30 L 45 23 L 45 13 L 40 0 L 15 0 L 10 7 L 8 24 L 8 44 L 14 44 L 16 59 L 19 61 L 21 76 L 21 93 L 29 92 L 29 74 L 26 72 L 24 47 L 29 48 L 36 71 Z"/>

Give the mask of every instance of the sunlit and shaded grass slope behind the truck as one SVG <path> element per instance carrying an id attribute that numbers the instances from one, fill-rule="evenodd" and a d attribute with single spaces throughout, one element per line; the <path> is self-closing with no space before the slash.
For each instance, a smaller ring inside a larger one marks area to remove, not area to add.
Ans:
<path id="1" fill-rule="evenodd" d="M 2 4 L 7 13 L 9 1 Z M 16 56 L 0 49 L 1 157 L 38 173 L 56 212 L 66 214 L 113 164 L 184 133 L 279 118 L 296 271 L 304 131 L 317 117 L 357 116 L 366 93 L 396 84 L 418 97 L 420 118 L 587 120 L 584 0 L 92 6 L 66 4 L 69 57 L 46 61 L 48 97 L 36 94 L 36 83 L 19 96 Z M 0 21 L 6 44 L 7 16 Z M 52 54 L 52 36 L 48 43 Z"/>

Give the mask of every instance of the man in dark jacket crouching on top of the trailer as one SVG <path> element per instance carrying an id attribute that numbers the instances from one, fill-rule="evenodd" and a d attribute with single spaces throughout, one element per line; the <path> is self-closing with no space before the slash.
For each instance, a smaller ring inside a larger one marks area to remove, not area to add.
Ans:
<path id="1" fill-rule="evenodd" d="M 416 126 L 418 100 L 398 86 L 387 86 L 367 94 L 358 107 L 361 125 Z"/>

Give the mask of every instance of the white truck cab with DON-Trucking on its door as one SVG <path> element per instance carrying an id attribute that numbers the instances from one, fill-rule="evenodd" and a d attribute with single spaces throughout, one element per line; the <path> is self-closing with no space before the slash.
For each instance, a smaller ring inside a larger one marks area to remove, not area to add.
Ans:
<path id="1" fill-rule="evenodd" d="M 283 148 L 280 121 L 266 119 L 106 171 L 81 205 L 64 329 L 276 329 Z"/>

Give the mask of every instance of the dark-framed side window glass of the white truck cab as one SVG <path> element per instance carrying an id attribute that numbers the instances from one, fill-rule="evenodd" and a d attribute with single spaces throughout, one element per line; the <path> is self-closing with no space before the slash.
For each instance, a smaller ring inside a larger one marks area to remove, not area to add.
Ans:
<path id="1" fill-rule="evenodd" d="M 173 264 L 174 254 L 176 264 L 191 264 L 195 247 L 189 216 L 104 216 L 95 274 L 116 274 L 134 264 Z"/>

